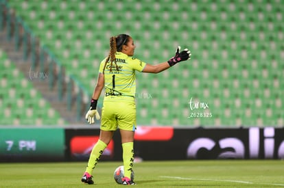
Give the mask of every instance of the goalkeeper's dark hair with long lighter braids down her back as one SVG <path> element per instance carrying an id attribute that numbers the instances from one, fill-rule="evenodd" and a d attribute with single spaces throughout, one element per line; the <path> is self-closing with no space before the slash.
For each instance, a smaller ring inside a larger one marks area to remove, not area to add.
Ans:
<path id="1" fill-rule="evenodd" d="M 104 70 L 106 69 L 106 64 L 108 62 L 110 62 L 110 72 L 112 71 L 113 68 L 113 62 L 115 62 L 115 68 L 119 70 L 117 62 L 115 61 L 115 53 L 117 51 L 122 50 L 123 44 L 126 44 L 128 42 L 129 37 L 130 36 L 126 34 L 120 34 L 119 36 L 110 37 L 110 53 L 108 53 L 108 57 L 106 57 L 106 62 L 104 63 Z"/>

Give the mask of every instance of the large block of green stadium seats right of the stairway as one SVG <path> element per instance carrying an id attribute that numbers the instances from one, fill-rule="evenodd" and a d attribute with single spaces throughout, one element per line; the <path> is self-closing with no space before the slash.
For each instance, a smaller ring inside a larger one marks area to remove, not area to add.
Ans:
<path id="1" fill-rule="evenodd" d="M 283 126 L 283 3 L 180 2 L 9 1 L 90 93 L 110 36 L 129 33 L 150 64 L 188 46 L 191 62 L 137 73 L 138 124 Z M 188 118 L 191 97 L 213 117 Z"/>

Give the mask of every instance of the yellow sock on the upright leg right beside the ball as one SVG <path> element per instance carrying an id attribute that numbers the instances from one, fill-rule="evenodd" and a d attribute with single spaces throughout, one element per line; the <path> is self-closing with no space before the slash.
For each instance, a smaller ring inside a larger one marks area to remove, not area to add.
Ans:
<path id="1" fill-rule="evenodd" d="M 123 149 L 124 176 L 131 179 L 131 172 L 134 161 L 133 142 L 123 143 L 122 149 Z"/>

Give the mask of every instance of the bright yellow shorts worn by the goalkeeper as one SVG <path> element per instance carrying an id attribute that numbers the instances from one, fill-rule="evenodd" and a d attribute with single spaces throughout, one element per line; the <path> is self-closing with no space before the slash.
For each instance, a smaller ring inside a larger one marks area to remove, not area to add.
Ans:
<path id="1" fill-rule="evenodd" d="M 135 131 L 136 105 L 134 101 L 104 101 L 100 129 Z"/>

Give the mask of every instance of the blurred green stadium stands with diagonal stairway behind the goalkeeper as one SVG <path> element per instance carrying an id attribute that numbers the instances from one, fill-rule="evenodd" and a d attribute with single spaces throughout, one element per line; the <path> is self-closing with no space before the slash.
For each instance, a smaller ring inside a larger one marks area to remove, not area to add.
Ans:
<path id="1" fill-rule="evenodd" d="M 149 64 L 192 53 L 137 72 L 138 125 L 283 127 L 283 12 L 281 0 L 1 0 L 0 124 L 86 124 L 109 38 L 127 33 Z"/>

